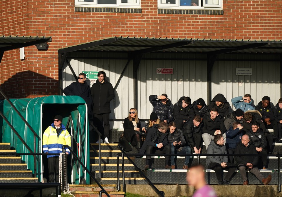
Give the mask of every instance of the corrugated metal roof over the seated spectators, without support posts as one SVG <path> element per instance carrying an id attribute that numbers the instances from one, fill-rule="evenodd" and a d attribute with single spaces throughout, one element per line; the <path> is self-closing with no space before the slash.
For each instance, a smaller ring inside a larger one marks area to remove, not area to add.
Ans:
<path id="1" fill-rule="evenodd" d="M 282 53 L 282 40 L 174 39 L 112 37 L 59 49 L 72 51 L 197 52 L 197 53 Z"/>

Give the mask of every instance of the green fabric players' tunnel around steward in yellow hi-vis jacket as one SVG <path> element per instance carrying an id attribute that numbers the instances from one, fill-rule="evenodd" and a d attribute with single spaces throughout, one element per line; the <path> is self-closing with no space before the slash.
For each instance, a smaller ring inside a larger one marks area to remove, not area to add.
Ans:
<path id="1" fill-rule="evenodd" d="M 0 110 L 33 152 L 42 153 L 42 135 L 45 129 L 53 123 L 54 116 L 61 115 L 63 117 L 62 124 L 66 126 L 71 135 L 71 149 L 89 169 L 88 114 L 87 105 L 81 97 L 44 96 L 33 99 L 10 99 L 10 101 L 37 133 L 35 151 L 32 131 L 9 105 L 8 101 L 1 101 Z M 2 127 L 0 130 L 2 142 L 11 143 L 11 147 L 16 150 L 16 153 L 29 153 L 28 149 L 2 118 L 0 126 Z M 34 173 L 34 156 L 21 157 L 27 164 L 27 168 Z M 80 179 L 85 178 L 86 183 L 89 184 L 89 175 L 71 154 L 68 156 L 67 168 L 68 183 L 79 184 Z M 36 156 L 35 177 L 38 177 L 39 182 L 42 182 L 43 177 L 48 178 L 46 171 L 48 171 L 46 156 Z"/>

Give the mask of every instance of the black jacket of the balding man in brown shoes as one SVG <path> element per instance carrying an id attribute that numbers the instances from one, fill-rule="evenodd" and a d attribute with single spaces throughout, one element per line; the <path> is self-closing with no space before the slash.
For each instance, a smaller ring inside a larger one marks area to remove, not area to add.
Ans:
<path id="1" fill-rule="evenodd" d="M 234 154 L 249 154 L 249 155 L 257 155 L 258 152 L 256 151 L 256 147 L 254 144 L 249 142 L 248 146 L 245 146 L 243 143 L 239 143 L 236 148 L 235 148 L 235 153 Z M 254 166 L 258 165 L 259 157 L 257 156 L 235 156 L 235 161 L 236 164 L 238 165 L 239 163 L 244 164 L 245 166 L 247 163 L 251 163 Z"/>

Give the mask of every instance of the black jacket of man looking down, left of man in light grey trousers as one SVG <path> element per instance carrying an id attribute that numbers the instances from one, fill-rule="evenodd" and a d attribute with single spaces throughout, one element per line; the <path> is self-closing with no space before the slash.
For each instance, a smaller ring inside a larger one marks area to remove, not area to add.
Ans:
<path id="1" fill-rule="evenodd" d="M 194 141 L 193 135 L 195 133 L 203 134 L 203 126 L 204 124 L 201 122 L 199 126 L 194 126 L 193 119 L 184 123 L 183 125 L 183 135 L 186 136 L 186 139 L 188 140 L 190 146 L 194 148 L 196 146 L 196 143 Z"/>

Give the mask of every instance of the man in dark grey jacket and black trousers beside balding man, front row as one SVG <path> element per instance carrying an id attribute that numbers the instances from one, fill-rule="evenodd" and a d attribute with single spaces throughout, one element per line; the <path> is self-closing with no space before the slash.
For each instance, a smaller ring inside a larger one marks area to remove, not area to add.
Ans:
<path id="1" fill-rule="evenodd" d="M 226 147 L 221 134 L 214 136 L 214 140 L 208 146 L 207 154 L 226 154 Z M 227 156 L 207 156 L 207 168 L 215 171 L 219 185 L 229 185 L 231 177 L 236 170 L 236 165 L 228 162 Z M 227 170 L 223 181 L 222 170 Z"/>

